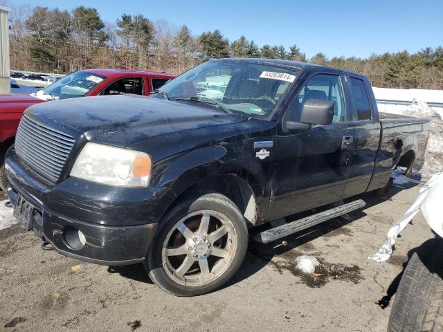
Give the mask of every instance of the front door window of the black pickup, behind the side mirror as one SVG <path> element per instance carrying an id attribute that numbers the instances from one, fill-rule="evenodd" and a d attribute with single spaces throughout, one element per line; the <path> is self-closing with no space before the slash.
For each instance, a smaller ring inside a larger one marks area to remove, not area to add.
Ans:
<path id="1" fill-rule="evenodd" d="M 332 122 L 345 122 L 345 100 L 338 75 L 319 74 L 312 76 L 298 93 L 298 104 L 301 110 L 309 99 L 330 100 L 334 102 Z"/>

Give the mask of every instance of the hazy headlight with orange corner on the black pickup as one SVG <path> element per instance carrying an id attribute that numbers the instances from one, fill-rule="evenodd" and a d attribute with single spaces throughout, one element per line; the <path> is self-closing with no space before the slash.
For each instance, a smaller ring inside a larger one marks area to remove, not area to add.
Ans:
<path id="1" fill-rule="evenodd" d="M 144 152 L 88 142 L 80 152 L 71 176 L 118 187 L 147 187 L 151 157 Z"/>

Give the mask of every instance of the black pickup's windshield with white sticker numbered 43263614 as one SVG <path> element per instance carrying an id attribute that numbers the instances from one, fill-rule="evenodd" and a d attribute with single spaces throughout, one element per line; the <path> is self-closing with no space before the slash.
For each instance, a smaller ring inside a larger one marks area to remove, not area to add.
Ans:
<path id="1" fill-rule="evenodd" d="M 156 98 L 222 107 L 263 118 L 294 82 L 297 68 L 244 61 L 213 60 L 192 68 L 160 88 Z"/>

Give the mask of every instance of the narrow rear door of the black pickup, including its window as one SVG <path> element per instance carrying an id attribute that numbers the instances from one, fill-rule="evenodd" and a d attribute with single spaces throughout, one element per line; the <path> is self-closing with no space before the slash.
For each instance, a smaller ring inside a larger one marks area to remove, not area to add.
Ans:
<path id="1" fill-rule="evenodd" d="M 380 122 L 376 118 L 377 104 L 371 100 L 371 86 L 365 77 L 346 75 L 350 95 L 354 140 L 350 175 L 347 179 L 343 198 L 365 192 L 370 183 L 380 141 Z"/>

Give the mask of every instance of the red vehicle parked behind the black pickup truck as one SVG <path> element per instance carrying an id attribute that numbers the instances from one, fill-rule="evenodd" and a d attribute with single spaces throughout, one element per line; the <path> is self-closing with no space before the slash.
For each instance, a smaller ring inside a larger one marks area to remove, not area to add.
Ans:
<path id="1" fill-rule="evenodd" d="M 154 71 L 87 69 L 66 75 L 33 95 L 0 95 L 0 188 L 6 190 L 4 156 L 14 143 L 21 114 L 31 105 L 46 100 L 94 95 L 150 95 L 174 77 L 175 75 Z"/>

